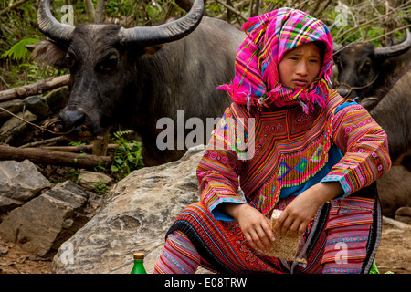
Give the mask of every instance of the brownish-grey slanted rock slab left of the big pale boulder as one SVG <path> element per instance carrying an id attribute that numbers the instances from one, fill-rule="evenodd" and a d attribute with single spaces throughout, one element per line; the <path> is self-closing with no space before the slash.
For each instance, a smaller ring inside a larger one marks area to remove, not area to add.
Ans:
<path id="1" fill-rule="evenodd" d="M 88 197 L 71 181 L 58 183 L 7 214 L 0 224 L 0 237 L 35 255 L 47 255 L 90 220 L 82 213 Z"/>

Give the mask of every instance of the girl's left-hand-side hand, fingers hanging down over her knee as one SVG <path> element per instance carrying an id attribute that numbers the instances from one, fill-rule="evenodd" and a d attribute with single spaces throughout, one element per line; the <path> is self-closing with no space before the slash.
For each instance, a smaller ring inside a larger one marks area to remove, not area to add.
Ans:
<path id="1" fill-rule="evenodd" d="M 227 203 L 224 210 L 237 219 L 248 245 L 267 252 L 275 240 L 269 219 L 248 203 Z"/>

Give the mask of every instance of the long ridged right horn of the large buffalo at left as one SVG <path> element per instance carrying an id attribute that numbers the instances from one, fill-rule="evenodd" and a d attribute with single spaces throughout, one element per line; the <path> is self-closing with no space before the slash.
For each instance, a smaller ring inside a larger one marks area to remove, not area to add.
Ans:
<path id="1" fill-rule="evenodd" d="M 173 42 L 190 34 L 200 23 L 204 13 L 203 0 L 195 0 L 190 11 L 182 18 L 160 26 L 137 26 L 120 30 L 121 43 L 139 43 L 153 46 Z"/>

